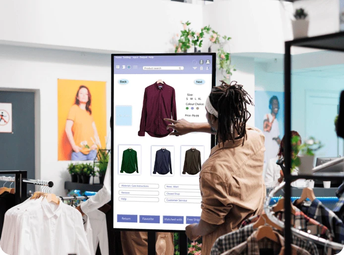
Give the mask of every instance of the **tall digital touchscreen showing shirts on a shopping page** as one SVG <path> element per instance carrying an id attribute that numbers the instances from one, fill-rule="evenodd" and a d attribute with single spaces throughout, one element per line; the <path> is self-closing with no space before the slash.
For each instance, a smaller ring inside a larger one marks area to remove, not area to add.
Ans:
<path id="1" fill-rule="evenodd" d="M 211 134 L 171 135 L 164 119 L 206 122 L 215 54 L 112 55 L 114 228 L 185 230 L 201 215 Z"/>

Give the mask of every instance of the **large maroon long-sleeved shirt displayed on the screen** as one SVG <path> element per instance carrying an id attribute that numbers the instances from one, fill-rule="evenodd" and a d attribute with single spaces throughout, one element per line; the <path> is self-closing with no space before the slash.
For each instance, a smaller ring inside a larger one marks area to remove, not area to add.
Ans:
<path id="1" fill-rule="evenodd" d="M 177 120 L 174 88 L 166 83 L 155 83 L 145 88 L 138 135 L 145 136 L 147 132 L 153 137 L 168 136 L 173 129 L 166 129 L 170 123 L 164 121 L 165 118 Z"/>

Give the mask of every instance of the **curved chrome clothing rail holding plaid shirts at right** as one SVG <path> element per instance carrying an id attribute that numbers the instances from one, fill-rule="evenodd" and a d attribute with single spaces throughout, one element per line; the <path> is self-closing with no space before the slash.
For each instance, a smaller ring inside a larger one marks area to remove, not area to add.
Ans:
<path id="1" fill-rule="evenodd" d="M 268 216 L 268 218 L 274 222 L 275 224 L 277 224 L 278 226 L 285 228 L 285 223 L 281 220 L 279 220 L 277 217 L 275 217 L 274 213 L 272 212 L 271 208 L 269 207 L 270 205 L 270 201 L 273 197 L 275 197 L 275 194 L 280 191 L 281 189 L 284 188 L 285 186 L 285 182 L 282 182 L 279 186 L 277 186 L 276 188 L 274 188 L 270 194 L 266 197 L 265 199 L 265 203 L 264 203 L 264 211 L 266 213 L 266 215 Z M 334 250 L 339 250 L 342 251 L 344 248 L 344 245 L 336 243 L 336 242 L 332 242 L 329 240 L 326 240 L 324 238 L 320 238 L 311 234 L 308 234 L 306 232 L 303 232 L 299 229 L 293 228 L 291 227 L 291 232 L 293 235 L 300 237 L 302 239 L 305 240 L 311 240 L 317 244 L 323 245 L 325 248 L 332 248 Z"/>

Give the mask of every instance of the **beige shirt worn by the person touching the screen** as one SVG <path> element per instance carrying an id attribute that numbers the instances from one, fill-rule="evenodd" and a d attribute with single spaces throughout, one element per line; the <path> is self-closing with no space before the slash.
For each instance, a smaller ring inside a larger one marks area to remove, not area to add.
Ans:
<path id="1" fill-rule="evenodd" d="M 200 172 L 202 194 L 201 219 L 218 225 L 203 236 L 202 254 L 209 255 L 216 239 L 239 228 L 241 222 L 263 212 L 264 135 L 255 127 L 246 127 L 244 138 L 215 146 Z"/>

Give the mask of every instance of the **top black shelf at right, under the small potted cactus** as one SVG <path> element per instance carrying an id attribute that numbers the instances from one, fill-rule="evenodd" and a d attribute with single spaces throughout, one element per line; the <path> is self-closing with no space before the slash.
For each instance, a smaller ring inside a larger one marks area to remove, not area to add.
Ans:
<path id="1" fill-rule="evenodd" d="M 291 46 L 344 51 L 344 32 L 286 42 Z"/>

